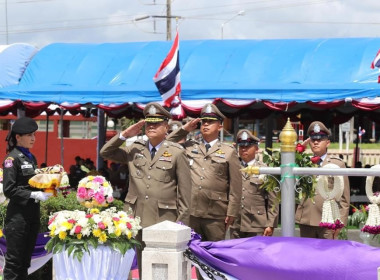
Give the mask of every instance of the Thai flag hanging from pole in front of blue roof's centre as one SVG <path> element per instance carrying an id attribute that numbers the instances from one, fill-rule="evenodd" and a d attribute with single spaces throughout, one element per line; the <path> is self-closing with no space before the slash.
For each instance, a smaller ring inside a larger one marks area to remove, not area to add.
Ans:
<path id="1" fill-rule="evenodd" d="M 181 92 L 181 73 L 179 70 L 179 43 L 178 43 L 178 31 L 174 39 L 173 46 L 171 47 L 165 60 L 162 62 L 156 75 L 153 77 L 158 91 L 164 100 L 165 106 L 171 107 L 172 101 L 176 98 L 176 101 L 180 101 Z M 173 102 L 174 103 L 174 102 Z"/>

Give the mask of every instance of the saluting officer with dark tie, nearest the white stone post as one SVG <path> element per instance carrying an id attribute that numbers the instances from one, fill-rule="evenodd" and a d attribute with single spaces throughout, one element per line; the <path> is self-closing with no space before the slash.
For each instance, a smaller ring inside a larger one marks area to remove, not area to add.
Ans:
<path id="1" fill-rule="evenodd" d="M 143 113 L 145 120 L 114 136 L 100 154 L 105 159 L 128 165 L 129 190 L 125 203 L 141 218 L 143 228 L 165 220 L 188 225 L 189 163 L 181 145 L 165 140 L 171 115 L 158 103 L 147 104 Z M 126 138 L 138 135 L 144 125 L 149 140 L 136 140 L 130 146 L 123 146 Z M 138 238 L 141 241 L 141 233 Z M 141 260 L 141 251 L 138 255 Z"/>

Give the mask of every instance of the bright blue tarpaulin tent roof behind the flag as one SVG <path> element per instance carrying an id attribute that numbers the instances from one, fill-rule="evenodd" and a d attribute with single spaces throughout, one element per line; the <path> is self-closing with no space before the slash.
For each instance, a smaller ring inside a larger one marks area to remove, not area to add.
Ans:
<path id="1" fill-rule="evenodd" d="M 160 101 L 153 76 L 172 42 L 51 44 L 1 99 L 123 104 Z M 370 65 L 380 38 L 180 41 L 182 99 L 299 103 L 380 96 Z"/>

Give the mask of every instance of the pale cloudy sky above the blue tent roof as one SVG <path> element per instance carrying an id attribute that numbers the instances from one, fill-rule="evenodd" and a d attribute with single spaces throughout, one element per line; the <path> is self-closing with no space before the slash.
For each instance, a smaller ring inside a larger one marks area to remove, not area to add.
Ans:
<path id="1" fill-rule="evenodd" d="M 0 0 L 0 45 L 167 39 L 169 0 Z M 172 0 L 180 40 L 380 37 L 379 0 Z"/>

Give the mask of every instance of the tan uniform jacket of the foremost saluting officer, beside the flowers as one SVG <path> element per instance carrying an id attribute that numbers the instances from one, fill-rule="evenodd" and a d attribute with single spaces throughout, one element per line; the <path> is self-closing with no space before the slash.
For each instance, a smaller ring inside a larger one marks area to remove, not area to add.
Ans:
<path id="1" fill-rule="evenodd" d="M 119 135 L 101 150 L 101 156 L 128 165 L 129 190 L 125 198 L 141 226 L 147 227 L 165 220 L 189 224 L 190 172 L 181 145 L 164 140 L 153 160 L 148 142 L 137 140 L 131 146 Z"/>

